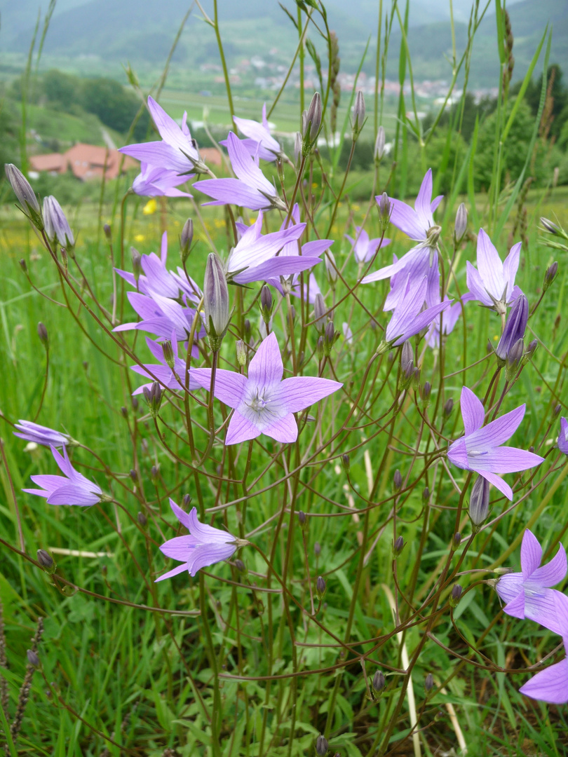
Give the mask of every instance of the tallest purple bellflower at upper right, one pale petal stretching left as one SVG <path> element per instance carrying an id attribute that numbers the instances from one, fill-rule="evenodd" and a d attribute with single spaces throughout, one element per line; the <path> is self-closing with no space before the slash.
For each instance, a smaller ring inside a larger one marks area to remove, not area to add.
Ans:
<path id="1" fill-rule="evenodd" d="M 376 198 L 379 207 L 380 200 L 380 197 Z M 403 269 L 406 269 L 406 274 L 410 273 L 413 279 L 420 279 L 423 276 L 422 268 L 426 262 L 429 268 L 435 267 L 435 269 L 438 269 L 436 243 L 440 234 L 440 227 L 435 225 L 433 213 L 441 201 L 442 195 L 439 195 L 432 201 L 432 169 L 429 169 L 426 172 L 426 176 L 424 176 L 422 185 L 420 185 L 420 192 L 418 192 L 416 202 L 414 203 L 414 208 L 401 200 L 389 198 L 389 203 L 392 207 L 391 223 L 419 244 L 403 255 L 400 260 L 392 263 L 392 265 L 384 266 L 378 271 L 365 276 L 361 283 L 367 284 L 369 282 L 382 281 L 382 279 L 390 279 L 391 276 L 394 276 L 395 273 Z M 420 271 L 415 274 L 414 269 L 416 266 L 420 267 Z M 428 274 L 426 273 L 426 275 Z"/>

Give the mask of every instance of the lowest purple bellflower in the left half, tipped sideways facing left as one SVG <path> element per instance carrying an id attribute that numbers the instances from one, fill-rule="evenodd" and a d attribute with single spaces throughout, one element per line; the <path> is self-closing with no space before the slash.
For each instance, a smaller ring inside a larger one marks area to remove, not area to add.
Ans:
<path id="1" fill-rule="evenodd" d="M 195 507 L 189 513 L 183 512 L 183 509 L 171 499 L 170 507 L 174 516 L 182 525 L 185 525 L 189 534 L 173 537 L 161 545 L 160 550 L 165 556 L 178 560 L 182 565 L 177 565 L 173 570 L 156 578 L 156 582 L 164 581 L 164 578 L 172 578 L 184 571 L 187 571 L 189 575 L 195 575 L 201 568 L 229 559 L 239 547 L 248 544 L 226 531 L 221 531 L 220 528 L 200 523 Z"/>

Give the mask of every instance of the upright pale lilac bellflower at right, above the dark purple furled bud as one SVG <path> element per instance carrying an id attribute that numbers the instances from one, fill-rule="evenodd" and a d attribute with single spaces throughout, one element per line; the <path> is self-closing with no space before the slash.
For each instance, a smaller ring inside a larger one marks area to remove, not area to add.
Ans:
<path id="1" fill-rule="evenodd" d="M 507 305 L 521 294 L 520 288 L 515 285 L 520 248 L 520 242 L 513 245 L 502 263 L 491 239 L 483 229 L 479 229 L 477 268 L 467 261 L 467 285 L 470 292 L 482 305 L 492 307 L 498 313 L 505 313 Z"/>

